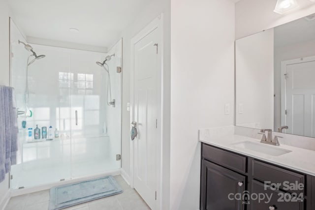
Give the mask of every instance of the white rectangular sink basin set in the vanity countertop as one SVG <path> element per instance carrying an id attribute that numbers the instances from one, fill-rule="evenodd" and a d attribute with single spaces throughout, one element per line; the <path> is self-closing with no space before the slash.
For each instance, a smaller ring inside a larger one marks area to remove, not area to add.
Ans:
<path id="1" fill-rule="evenodd" d="M 235 147 L 240 148 L 240 149 L 252 150 L 252 151 L 256 151 L 263 154 L 269 154 L 272 156 L 280 156 L 280 155 L 291 152 L 291 150 L 285 150 L 282 148 L 278 148 L 277 146 L 265 145 L 259 142 L 246 141 L 246 142 L 234 143 L 232 145 L 235 145 Z"/>

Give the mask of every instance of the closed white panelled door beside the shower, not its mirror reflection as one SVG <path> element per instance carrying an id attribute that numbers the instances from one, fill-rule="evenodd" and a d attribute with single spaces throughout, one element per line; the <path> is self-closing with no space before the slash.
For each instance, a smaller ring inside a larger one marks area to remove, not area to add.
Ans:
<path id="1" fill-rule="evenodd" d="M 133 185 L 151 209 L 156 209 L 160 138 L 161 40 L 159 27 L 134 44 L 134 121 L 138 135 L 133 141 Z"/>

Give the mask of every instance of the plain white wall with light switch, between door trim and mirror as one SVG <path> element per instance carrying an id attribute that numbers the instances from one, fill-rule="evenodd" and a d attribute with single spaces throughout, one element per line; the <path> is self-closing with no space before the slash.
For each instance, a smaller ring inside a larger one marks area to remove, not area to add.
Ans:
<path id="1" fill-rule="evenodd" d="M 171 210 L 199 209 L 198 129 L 233 124 L 234 17 L 230 0 L 171 0 Z"/>

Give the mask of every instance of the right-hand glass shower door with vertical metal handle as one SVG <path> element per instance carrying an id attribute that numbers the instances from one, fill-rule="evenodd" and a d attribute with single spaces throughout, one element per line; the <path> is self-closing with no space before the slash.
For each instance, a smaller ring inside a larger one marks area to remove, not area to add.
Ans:
<path id="1" fill-rule="evenodd" d="M 111 122 L 108 119 L 110 107 L 106 104 L 107 72 L 96 65 L 99 60 L 104 60 L 104 54 L 71 53 L 71 74 L 74 78 L 71 86 L 72 178 L 120 168 L 108 131 Z M 121 111 L 119 107 L 117 109 Z M 121 131 L 119 127 L 116 129 Z"/>

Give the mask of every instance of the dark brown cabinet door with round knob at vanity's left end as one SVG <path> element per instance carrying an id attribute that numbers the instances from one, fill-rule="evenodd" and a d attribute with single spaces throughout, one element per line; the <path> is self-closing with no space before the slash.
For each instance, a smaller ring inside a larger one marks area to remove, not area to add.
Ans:
<path id="1" fill-rule="evenodd" d="M 245 176 L 202 160 L 201 210 L 244 210 L 243 201 L 233 198 L 244 192 L 245 183 Z"/>

